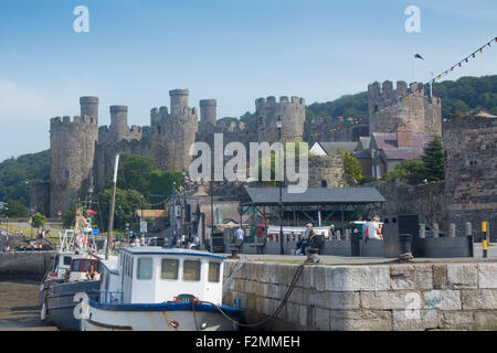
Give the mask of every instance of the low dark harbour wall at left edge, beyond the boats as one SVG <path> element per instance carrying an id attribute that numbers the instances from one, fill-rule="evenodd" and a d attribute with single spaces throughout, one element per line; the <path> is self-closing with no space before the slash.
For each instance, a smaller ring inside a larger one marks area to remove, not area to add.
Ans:
<path id="1" fill-rule="evenodd" d="M 55 252 L 0 253 L 0 279 L 42 279 Z"/>

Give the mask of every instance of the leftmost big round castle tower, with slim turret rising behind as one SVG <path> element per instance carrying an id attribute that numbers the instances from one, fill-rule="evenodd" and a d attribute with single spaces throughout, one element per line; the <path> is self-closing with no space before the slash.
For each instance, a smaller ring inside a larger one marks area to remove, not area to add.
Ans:
<path id="1" fill-rule="evenodd" d="M 83 97 L 87 98 L 87 97 Z M 98 98 L 92 104 L 81 99 L 82 111 L 95 114 Z M 96 104 L 94 104 L 96 103 Z M 88 190 L 98 141 L 97 117 L 65 116 L 50 121 L 50 213 L 67 211 L 71 202 Z"/>

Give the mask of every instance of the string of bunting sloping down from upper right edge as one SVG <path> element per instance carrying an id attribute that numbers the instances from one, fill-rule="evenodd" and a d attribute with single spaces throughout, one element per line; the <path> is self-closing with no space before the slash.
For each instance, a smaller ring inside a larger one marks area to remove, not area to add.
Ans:
<path id="1" fill-rule="evenodd" d="M 390 109 L 392 109 L 394 106 L 396 106 L 398 104 L 402 103 L 404 99 L 409 100 L 410 97 L 417 95 L 417 93 L 422 93 L 424 87 L 426 87 L 427 89 L 430 88 L 431 85 L 433 85 L 435 83 L 435 81 L 440 81 L 442 79 L 443 76 L 448 75 L 451 72 L 453 72 L 455 68 L 457 67 L 462 67 L 463 64 L 466 64 L 469 62 L 469 60 L 475 58 L 476 54 L 482 54 L 483 51 L 485 49 L 489 49 L 491 47 L 491 43 L 497 43 L 497 36 L 494 38 L 491 41 L 487 42 L 485 45 L 480 46 L 479 49 L 477 49 L 476 51 L 474 51 L 472 54 L 469 54 L 468 56 L 464 57 L 462 61 L 459 61 L 458 63 L 456 63 L 455 65 L 451 66 L 451 68 L 447 68 L 443 72 L 441 72 L 438 75 L 433 76 L 434 78 L 430 79 L 427 83 L 420 85 L 420 88 L 415 89 L 414 92 L 410 93 L 409 95 L 404 96 L 404 97 L 400 97 L 399 99 L 395 99 L 393 103 L 382 107 L 381 109 L 377 109 L 374 110 L 374 115 L 378 115 L 380 113 L 385 113 L 385 114 L 390 114 Z M 497 44 L 496 44 L 497 45 Z M 339 131 L 339 130 L 343 130 L 345 128 L 355 125 L 355 124 L 361 124 L 362 121 L 367 121 L 368 120 L 368 116 L 361 117 L 361 118 L 355 118 L 351 121 L 347 121 L 343 125 L 340 126 L 336 126 L 334 128 L 327 129 L 326 131 L 319 131 L 319 132 L 309 132 L 309 137 L 316 137 L 316 136 L 321 136 L 325 135 L 326 132 L 334 132 L 334 131 Z M 286 139 L 292 139 L 298 136 L 286 136 Z M 302 136 L 303 137 L 303 136 Z"/>

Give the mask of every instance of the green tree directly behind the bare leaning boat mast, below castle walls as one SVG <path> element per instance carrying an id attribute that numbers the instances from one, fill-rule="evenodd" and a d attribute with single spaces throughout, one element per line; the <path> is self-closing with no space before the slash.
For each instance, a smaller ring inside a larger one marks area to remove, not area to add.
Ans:
<path id="1" fill-rule="evenodd" d="M 103 213 L 98 214 L 99 220 L 104 226 L 104 229 L 108 229 L 108 216 L 110 210 L 110 197 L 113 195 L 112 188 L 105 189 L 101 192 L 99 202 Z M 114 229 L 125 229 L 126 223 L 136 223 L 137 217 L 135 215 L 136 210 L 147 207 L 146 201 L 141 197 L 140 193 L 136 190 L 120 190 L 116 189 L 116 202 L 114 207 Z M 101 223 L 98 223 L 101 224 Z M 131 226 L 133 227 L 133 226 Z"/>

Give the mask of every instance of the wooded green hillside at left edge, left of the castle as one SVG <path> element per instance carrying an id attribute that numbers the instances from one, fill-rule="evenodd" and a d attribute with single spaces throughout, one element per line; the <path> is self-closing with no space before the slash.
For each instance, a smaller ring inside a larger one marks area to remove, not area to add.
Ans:
<path id="1" fill-rule="evenodd" d="M 30 184 L 49 180 L 49 150 L 7 159 L 0 163 L 0 200 L 15 200 L 28 205 Z"/>

